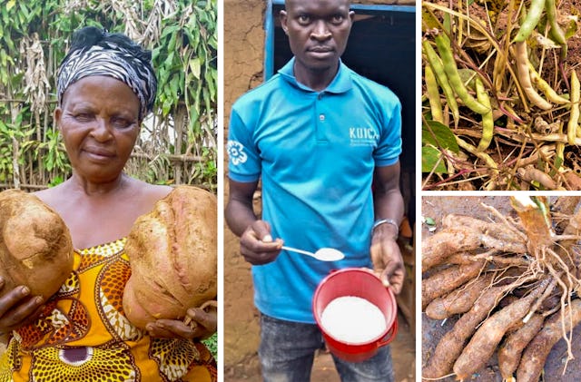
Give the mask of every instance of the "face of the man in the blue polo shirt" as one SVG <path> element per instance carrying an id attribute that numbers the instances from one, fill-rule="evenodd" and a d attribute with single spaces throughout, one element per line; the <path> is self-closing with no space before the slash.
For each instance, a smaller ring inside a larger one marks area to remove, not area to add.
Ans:
<path id="1" fill-rule="evenodd" d="M 287 0 L 282 29 L 296 62 L 308 71 L 336 68 L 347 45 L 353 12 L 349 0 Z"/>

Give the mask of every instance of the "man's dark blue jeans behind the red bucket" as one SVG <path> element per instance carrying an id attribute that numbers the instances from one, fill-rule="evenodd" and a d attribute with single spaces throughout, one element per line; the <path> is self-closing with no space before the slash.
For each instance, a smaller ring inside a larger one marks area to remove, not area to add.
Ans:
<path id="1" fill-rule="evenodd" d="M 308 382 L 315 351 L 323 338 L 315 324 L 284 321 L 261 315 L 261 358 L 264 382 Z M 389 346 L 363 362 L 347 362 L 333 355 L 342 382 L 391 382 Z"/>

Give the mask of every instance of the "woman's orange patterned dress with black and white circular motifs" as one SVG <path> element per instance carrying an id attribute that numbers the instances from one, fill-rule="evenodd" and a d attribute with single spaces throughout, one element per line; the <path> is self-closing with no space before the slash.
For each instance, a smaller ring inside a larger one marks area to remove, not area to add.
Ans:
<path id="1" fill-rule="evenodd" d="M 13 332 L 0 382 L 215 382 L 199 342 L 151 338 L 123 315 L 124 239 L 75 250 L 74 271 L 34 323 Z"/>

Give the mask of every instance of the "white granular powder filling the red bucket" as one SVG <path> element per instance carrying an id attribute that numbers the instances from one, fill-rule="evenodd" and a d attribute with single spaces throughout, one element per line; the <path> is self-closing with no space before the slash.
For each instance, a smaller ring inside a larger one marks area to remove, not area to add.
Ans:
<path id="1" fill-rule="evenodd" d="M 320 315 L 321 327 L 332 338 L 350 344 L 363 344 L 377 338 L 387 327 L 381 310 L 355 296 L 330 301 Z"/>

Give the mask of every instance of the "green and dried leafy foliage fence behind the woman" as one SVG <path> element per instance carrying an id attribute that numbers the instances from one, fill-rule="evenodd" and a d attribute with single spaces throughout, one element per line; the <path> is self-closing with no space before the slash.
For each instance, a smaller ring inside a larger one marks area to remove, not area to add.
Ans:
<path id="1" fill-rule="evenodd" d="M 216 24 L 216 0 L 0 0 L 0 190 L 39 190 L 70 175 L 53 121 L 55 75 L 74 30 L 96 25 L 152 50 L 158 76 L 126 171 L 215 192 Z"/>

